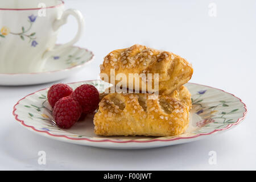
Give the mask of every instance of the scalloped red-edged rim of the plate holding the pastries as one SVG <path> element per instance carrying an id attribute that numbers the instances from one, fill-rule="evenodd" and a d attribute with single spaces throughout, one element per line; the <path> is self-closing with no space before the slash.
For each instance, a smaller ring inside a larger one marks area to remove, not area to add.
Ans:
<path id="1" fill-rule="evenodd" d="M 71 83 L 67 83 L 67 84 L 76 84 L 76 83 L 79 83 L 79 82 L 86 82 L 86 81 L 102 81 L 102 80 L 85 80 L 85 81 L 77 81 L 77 82 L 71 82 Z M 189 84 L 194 84 L 194 85 L 200 85 L 200 86 L 206 86 L 208 88 L 212 88 L 212 89 L 217 89 L 217 90 L 220 90 L 221 92 L 224 92 L 224 93 L 228 93 L 230 94 L 231 96 L 237 98 L 242 104 L 243 104 L 243 108 L 245 109 L 245 111 L 243 112 L 243 116 L 241 118 L 238 118 L 236 122 L 234 123 L 230 123 L 229 125 L 227 125 L 226 127 L 224 127 L 223 129 L 214 129 L 213 131 L 210 131 L 209 133 L 199 133 L 199 134 L 196 134 L 196 135 L 193 135 L 191 137 L 176 137 L 176 138 L 172 138 L 172 139 L 151 139 L 151 140 L 136 140 L 136 139 L 130 139 L 130 140 L 125 140 L 125 141 L 118 141 L 118 140 L 113 140 L 113 139 L 101 139 L 101 140 L 94 140 L 94 139 L 89 139 L 89 138 L 71 138 L 71 137 L 68 137 L 66 135 L 56 135 L 56 134 L 51 134 L 49 133 L 48 131 L 42 131 L 42 130 L 37 130 L 35 129 L 34 126 L 29 126 L 29 125 L 26 125 L 24 123 L 23 120 L 19 119 L 19 115 L 15 113 L 15 111 L 17 110 L 16 109 L 16 106 L 19 105 L 19 102 L 24 100 L 26 97 L 28 96 L 31 96 L 32 94 L 35 94 L 37 92 L 40 92 L 42 90 L 46 90 L 48 89 L 49 87 L 47 88 L 44 88 L 44 89 L 40 89 L 40 90 L 37 90 L 36 92 L 33 92 L 33 93 L 30 93 L 28 94 L 27 96 L 21 98 L 18 102 L 16 102 L 16 104 L 13 106 L 13 115 L 14 115 L 14 118 L 16 119 L 16 121 L 20 122 L 20 124 L 22 124 L 24 127 L 28 127 L 28 129 L 32 129 L 34 130 L 35 132 L 38 132 L 38 133 L 45 133 L 45 134 L 48 134 L 49 137 L 60 137 L 60 138 L 65 138 L 65 139 L 70 139 L 70 140 L 86 140 L 88 142 L 112 142 L 112 143 L 148 143 L 148 142 L 170 142 L 170 141 L 174 141 L 174 140 L 180 140 L 180 139 L 191 139 L 191 138 L 197 138 L 197 137 L 200 137 L 200 136 L 203 136 L 203 135 L 211 135 L 213 133 L 217 133 L 218 131 L 224 131 L 224 130 L 228 130 L 230 129 L 230 127 L 232 126 L 236 126 L 238 125 L 243 119 L 245 119 L 245 116 L 247 114 L 247 106 L 246 104 L 241 100 L 241 98 L 235 96 L 234 94 L 232 93 L 229 93 L 229 92 L 226 92 L 225 90 L 222 90 L 222 89 L 218 89 L 218 88 L 214 88 L 212 86 L 207 86 L 207 85 L 203 85 L 203 84 L 196 84 L 196 83 L 193 83 L 193 82 L 188 82 Z"/>

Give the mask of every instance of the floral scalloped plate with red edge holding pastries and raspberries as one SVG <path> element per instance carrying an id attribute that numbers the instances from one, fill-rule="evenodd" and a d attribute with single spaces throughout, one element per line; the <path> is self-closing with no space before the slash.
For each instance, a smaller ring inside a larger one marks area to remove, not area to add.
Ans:
<path id="1" fill-rule="evenodd" d="M 81 84 L 92 84 L 100 92 L 109 87 L 101 80 L 68 84 L 73 89 Z M 102 148 L 154 148 L 192 142 L 222 133 L 238 125 L 245 118 L 245 104 L 233 94 L 199 84 L 186 84 L 192 94 L 190 124 L 184 134 L 174 137 L 100 137 L 93 131 L 93 114 L 75 123 L 71 129 L 60 129 L 52 118 L 47 101 L 48 88 L 29 94 L 14 106 L 15 119 L 27 129 L 48 138 L 64 142 Z"/>

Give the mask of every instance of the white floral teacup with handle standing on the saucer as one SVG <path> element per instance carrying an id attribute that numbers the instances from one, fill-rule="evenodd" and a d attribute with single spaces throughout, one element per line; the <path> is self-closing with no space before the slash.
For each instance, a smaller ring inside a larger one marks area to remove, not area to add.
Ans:
<path id="1" fill-rule="evenodd" d="M 53 49 L 59 28 L 75 16 L 78 31 L 75 38 Z M 64 10 L 61 0 L 0 1 L 0 73 L 42 71 L 46 59 L 79 39 L 84 18 L 78 10 Z"/>

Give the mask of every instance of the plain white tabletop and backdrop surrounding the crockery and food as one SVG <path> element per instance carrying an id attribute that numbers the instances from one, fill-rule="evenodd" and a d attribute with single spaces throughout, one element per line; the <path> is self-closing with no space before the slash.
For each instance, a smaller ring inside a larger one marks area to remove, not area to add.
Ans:
<path id="1" fill-rule="evenodd" d="M 208 15 L 215 3 L 217 16 Z M 62 82 L 98 77 L 103 57 L 135 43 L 172 51 L 193 64 L 191 82 L 224 89 L 240 97 L 248 114 L 224 134 L 197 142 L 147 150 L 108 150 L 51 140 L 20 126 L 12 115 L 20 98 L 52 83 L 0 86 L 0 169 L 51 170 L 216 170 L 256 169 L 256 1 L 82 1 L 66 8 L 85 17 L 85 34 L 77 46 L 92 50 L 93 63 Z M 69 18 L 58 43 L 76 32 Z M 38 151 L 46 151 L 46 165 Z M 208 163 L 216 151 L 217 164 Z"/>

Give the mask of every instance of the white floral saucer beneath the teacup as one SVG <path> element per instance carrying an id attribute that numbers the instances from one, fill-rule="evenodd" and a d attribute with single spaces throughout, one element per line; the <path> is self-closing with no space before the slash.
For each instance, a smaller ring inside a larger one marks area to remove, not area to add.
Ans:
<path id="1" fill-rule="evenodd" d="M 93 57 L 87 49 L 70 46 L 49 57 L 42 72 L 0 73 L 0 85 L 34 85 L 62 80 L 80 71 Z"/>

